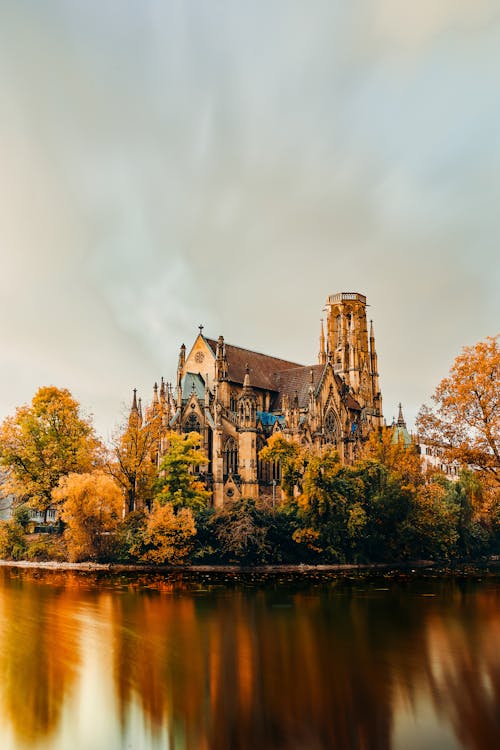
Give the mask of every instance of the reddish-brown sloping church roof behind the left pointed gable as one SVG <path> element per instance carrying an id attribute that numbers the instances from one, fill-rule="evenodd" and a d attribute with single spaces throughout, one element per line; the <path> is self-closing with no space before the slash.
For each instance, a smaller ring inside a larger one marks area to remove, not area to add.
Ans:
<path id="1" fill-rule="evenodd" d="M 205 341 L 216 353 L 217 341 L 206 338 Z M 275 382 L 275 373 L 292 368 L 300 368 L 297 362 L 289 362 L 279 357 L 270 357 L 267 354 L 253 352 L 250 349 L 242 349 L 232 344 L 224 344 L 228 365 L 228 377 L 233 383 L 243 383 L 245 368 L 250 368 L 250 381 L 256 388 L 265 388 L 269 391 L 278 390 Z"/>

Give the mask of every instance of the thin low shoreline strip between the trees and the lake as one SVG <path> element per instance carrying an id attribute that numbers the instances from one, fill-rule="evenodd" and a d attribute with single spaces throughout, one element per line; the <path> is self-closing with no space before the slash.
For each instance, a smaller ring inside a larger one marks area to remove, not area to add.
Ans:
<path id="1" fill-rule="evenodd" d="M 317 573 L 339 574 L 344 573 L 410 573 L 417 574 L 428 572 L 434 575 L 456 575 L 474 576 L 479 571 L 489 568 L 493 574 L 500 574 L 500 558 L 495 556 L 488 560 L 458 561 L 454 563 L 437 562 L 435 560 L 412 560 L 400 563 L 336 563 L 324 565 L 145 565 L 141 563 L 96 563 L 96 562 L 58 562 L 58 561 L 31 561 L 31 560 L 0 560 L 0 568 L 15 568 L 19 570 L 40 570 L 54 572 L 82 572 L 82 573 L 147 573 L 174 574 L 213 574 L 214 576 L 230 574 L 267 574 L 280 575 L 295 574 L 307 578 Z"/>

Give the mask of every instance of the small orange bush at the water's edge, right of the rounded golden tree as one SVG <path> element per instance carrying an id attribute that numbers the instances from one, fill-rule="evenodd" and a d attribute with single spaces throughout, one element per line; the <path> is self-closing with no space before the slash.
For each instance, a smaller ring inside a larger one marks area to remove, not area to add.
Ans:
<path id="1" fill-rule="evenodd" d="M 196 525 L 191 508 L 175 510 L 172 503 L 155 501 L 147 514 L 143 541 L 147 545 L 142 559 L 153 563 L 183 562 L 193 548 Z"/>

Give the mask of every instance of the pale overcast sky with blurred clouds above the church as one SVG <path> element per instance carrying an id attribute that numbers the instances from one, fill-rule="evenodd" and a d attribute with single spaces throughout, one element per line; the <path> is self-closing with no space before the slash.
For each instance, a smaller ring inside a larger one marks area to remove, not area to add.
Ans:
<path id="1" fill-rule="evenodd" d="M 413 423 L 499 329 L 498 0 L 0 0 L 0 418 L 108 436 L 210 336 L 309 364 L 368 296 Z"/>

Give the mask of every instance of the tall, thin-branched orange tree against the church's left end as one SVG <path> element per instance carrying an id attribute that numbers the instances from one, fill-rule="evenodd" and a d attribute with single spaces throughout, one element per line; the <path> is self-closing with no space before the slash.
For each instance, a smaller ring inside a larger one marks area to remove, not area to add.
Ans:
<path id="1" fill-rule="evenodd" d="M 137 409 L 132 409 L 126 427 L 114 437 L 106 470 L 122 487 L 128 513 L 152 502 L 160 428 L 160 415 L 143 422 Z"/>

